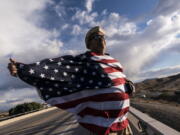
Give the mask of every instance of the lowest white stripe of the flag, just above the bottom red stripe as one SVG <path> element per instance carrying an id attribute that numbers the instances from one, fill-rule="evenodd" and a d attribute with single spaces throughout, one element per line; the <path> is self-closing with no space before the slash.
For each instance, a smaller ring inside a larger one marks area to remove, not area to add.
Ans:
<path id="1" fill-rule="evenodd" d="M 123 116 L 117 117 L 117 118 L 103 118 L 103 117 L 97 117 L 97 116 L 90 116 L 86 115 L 82 119 L 79 119 L 79 122 L 82 123 L 88 123 L 88 124 L 93 124 L 97 125 L 100 127 L 110 127 L 112 124 L 117 123 L 117 122 L 122 122 L 127 119 L 128 113 L 126 113 Z"/>

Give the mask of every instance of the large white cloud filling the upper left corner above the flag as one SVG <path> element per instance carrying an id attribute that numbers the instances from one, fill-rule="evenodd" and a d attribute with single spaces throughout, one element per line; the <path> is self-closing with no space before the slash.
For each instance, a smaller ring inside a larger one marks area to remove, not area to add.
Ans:
<path id="1" fill-rule="evenodd" d="M 47 51 L 48 55 L 57 54 L 57 51 L 48 51 L 48 44 L 56 35 L 53 31 L 38 27 L 41 22 L 40 11 L 44 10 L 47 1 L 25 2 L 23 0 L 6 1 L 1 3 L 0 22 L 0 57 L 10 54 L 21 55 L 26 53 L 27 57 L 36 57 L 36 51 Z M 27 6 L 24 6 L 27 5 Z M 56 50 L 59 50 L 57 45 Z M 29 52 L 29 53 L 27 53 Z M 31 53 L 36 53 L 31 55 Z M 22 57 L 22 55 L 21 55 Z M 41 56 L 42 57 L 42 56 Z"/>

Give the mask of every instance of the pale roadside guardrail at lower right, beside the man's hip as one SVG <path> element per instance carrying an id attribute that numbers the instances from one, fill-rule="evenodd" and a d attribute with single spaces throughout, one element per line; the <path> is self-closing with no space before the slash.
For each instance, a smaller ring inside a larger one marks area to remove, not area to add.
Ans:
<path id="1" fill-rule="evenodd" d="M 133 107 L 130 108 L 130 114 L 137 119 L 135 123 L 130 121 L 132 129 L 134 129 L 133 132 L 136 132 L 134 133 L 135 135 L 180 135 L 180 132 L 175 129 L 170 128 Z"/>

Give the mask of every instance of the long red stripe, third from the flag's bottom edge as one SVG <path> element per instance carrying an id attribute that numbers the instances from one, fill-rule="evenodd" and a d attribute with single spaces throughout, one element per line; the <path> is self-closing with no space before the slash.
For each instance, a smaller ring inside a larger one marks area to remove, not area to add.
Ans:
<path id="1" fill-rule="evenodd" d="M 105 94 L 98 94 L 95 96 L 80 98 L 80 99 L 62 103 L 62 104 L 56 104 L 55 106 L 57 106 L 61 109 L 67 109 L 67 108 L 72 108 L 78 104 L 85 103 L 88 101 L 94 101 L 94 102 L 122 101 L 125 99 L 129 99 L 129 95 L 126 93 L 105 93 Z"/>

